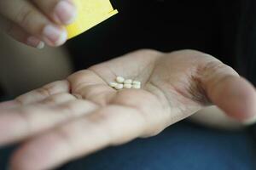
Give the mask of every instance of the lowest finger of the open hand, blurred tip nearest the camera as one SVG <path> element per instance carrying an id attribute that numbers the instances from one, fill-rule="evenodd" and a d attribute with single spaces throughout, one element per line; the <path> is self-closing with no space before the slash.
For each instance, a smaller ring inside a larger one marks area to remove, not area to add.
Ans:
<path id="1" fill-rule="evenodd" d="M 137 110 L 109 106 L 69 122 L 21 146 L 12 169 L 50 169 L 79 156 L 140 136 L 145 122 Z"/>

